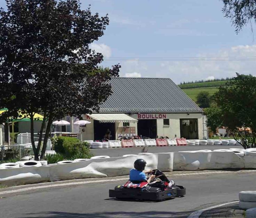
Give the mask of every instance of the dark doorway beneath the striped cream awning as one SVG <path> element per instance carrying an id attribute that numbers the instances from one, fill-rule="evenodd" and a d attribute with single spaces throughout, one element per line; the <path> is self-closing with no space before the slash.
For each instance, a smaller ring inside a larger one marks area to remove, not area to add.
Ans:
<path id="1" fill-rule="evenodd" d="M 115 123 L 100 123 L 94 120 L 94 140 L 102 140 L 107 132 L 110 130 L 110 140 L 115 140 Z"/>

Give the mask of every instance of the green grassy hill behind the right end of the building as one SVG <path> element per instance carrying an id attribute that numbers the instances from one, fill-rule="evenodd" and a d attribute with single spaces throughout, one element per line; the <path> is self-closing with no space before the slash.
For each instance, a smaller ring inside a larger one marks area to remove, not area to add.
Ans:
<path id="1" fill-rule="evenodd" d="M 230 80 L 230 79 L 228 79 Z M 220 81 L 206 81 L 206 82 L 193 82 L 179 84 L 178 86 L 184 91 L 194 102 L 197 101 L 197 95 L 201 91 L 208 91 L 210 95 L 213 95 L 218 91 L 218 87 L 225 86 L 228 80 Z"/>

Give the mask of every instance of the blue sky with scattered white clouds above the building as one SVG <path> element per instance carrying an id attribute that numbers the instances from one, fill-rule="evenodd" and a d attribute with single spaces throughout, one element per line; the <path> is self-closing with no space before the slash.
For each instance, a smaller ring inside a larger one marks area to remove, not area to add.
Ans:
<path id="1" fill-rule="evenodd" d="M 256 75 L 256 60 L 244 59 L 256 57 L 255 33 L 248 25 L 236 34 L 221 0 L 80 1 L 83 9 L 109 15 L 104 35 L 90 47 L 104 55 L 102 66 L 119 63 L 120 76 L 180 83 Z"/>

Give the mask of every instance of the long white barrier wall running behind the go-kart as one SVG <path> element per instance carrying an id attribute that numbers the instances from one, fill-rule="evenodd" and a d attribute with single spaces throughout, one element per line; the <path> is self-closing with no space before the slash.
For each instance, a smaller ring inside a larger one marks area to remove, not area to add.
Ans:
<path id="1" fill-rule="evenodd" d="M 147 162 L 146 169 L 160 169 L 162 171 L 256 169 L 255 156 L 238 156 L 232 150 L 143 153 L 137 156 L 117 158 L 96 156 L 87 161 L 64 161 L 69 163 L 61 162 L 59 164 L 60 162 L 58 162 L 58 164 L 40 167 L 1 168 L 0 185 L 10 186 L 42 181 L 129 175 L 129 170 L 133 168 L 134 161 L 139 158 Z M 35 162 L 36 165 L 41 164 Z M 23 161 L 16 164 L 21 166 L 22 163 Z"/>

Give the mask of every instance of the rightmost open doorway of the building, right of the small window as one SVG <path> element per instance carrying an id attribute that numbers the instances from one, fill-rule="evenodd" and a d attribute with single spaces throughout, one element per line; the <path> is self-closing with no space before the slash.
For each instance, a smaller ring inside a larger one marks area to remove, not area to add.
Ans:
<path id="1" fill-rule="evenodd" d="M 198 139 L 198 119 L 180 119 L 181 138 Z"/>

